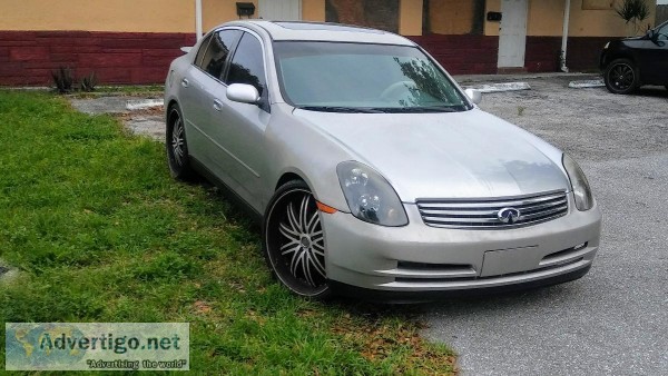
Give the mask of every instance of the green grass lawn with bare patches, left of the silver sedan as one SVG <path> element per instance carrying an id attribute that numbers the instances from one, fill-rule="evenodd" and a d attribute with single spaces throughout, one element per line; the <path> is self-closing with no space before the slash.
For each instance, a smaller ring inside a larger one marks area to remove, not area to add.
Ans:
<path id="1" fill-rule="evenodd" d="M 170 179 L 158 142 L 43 92 L 0 91 L 3 321 L 189 321 L 212 374 L 448 374 L 412 308 L 321 304 L 271 278 L 216 189 Z M 0 369 L 4 332 L 0 329 Z"/>

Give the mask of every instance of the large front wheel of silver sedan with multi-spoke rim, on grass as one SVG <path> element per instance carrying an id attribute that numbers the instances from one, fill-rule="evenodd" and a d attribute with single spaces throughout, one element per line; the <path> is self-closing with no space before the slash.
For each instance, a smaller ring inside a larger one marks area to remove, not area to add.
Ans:
<path id="1" fill-rule="evenodd" d="M 263 250 L 274 276 L 292 293 L 315 299 L 332 295 L 321 212 L 304 181 L 289 181 L 274 194 L 265 214 Z"/>

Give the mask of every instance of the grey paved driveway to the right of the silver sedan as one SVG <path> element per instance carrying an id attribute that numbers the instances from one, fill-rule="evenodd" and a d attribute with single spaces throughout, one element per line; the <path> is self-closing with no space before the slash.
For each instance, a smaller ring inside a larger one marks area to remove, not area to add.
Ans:
<path id="1" fill-rule="evenodd" d="M 580 162 L 603 212 L 599 254 L 574 283 L 430 306 L 424 335 L 452 345 L 464 375 L 668 375 L 668 91 L 570 79 L 481 108 Z"/>

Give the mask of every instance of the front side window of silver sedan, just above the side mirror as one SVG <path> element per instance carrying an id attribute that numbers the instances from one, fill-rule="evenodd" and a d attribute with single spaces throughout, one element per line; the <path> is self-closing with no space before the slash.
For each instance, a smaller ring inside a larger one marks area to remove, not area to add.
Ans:
<path id="1" fill-rule="evenodd" d="M 253 85 L 263 101 L 267 98 L 262 44 L 249 33 L 244 33 L 242 37 L 229 65 L 226 83 Z"/>

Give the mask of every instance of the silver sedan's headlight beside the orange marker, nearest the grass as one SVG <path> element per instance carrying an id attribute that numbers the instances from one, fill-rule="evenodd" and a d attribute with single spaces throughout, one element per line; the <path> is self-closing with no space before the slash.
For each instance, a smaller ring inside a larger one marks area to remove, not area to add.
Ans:
<path id="1" fill-rule="evenodd" d="M 343 195 L 353 216 L 382 226 L 404 226 L 409 218 L 387 180 L 366 165 L 345 161 L 336 167 Z"/>

